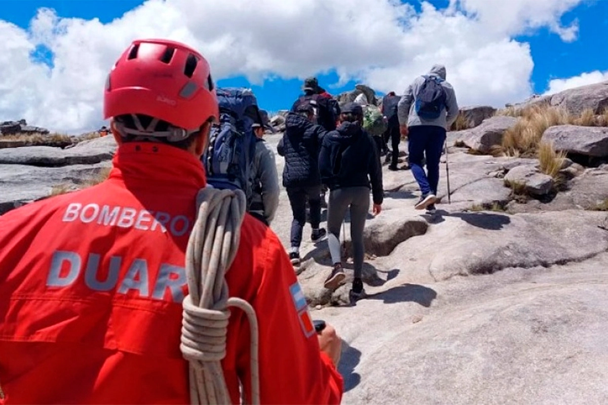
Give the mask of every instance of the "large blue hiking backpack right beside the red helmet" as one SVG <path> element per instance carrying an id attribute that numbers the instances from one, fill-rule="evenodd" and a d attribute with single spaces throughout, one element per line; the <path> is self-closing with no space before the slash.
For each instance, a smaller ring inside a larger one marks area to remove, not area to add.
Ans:
<path id="1" fill-rule="evenodd" d="M 241 189 L 249 201 L 256 140 L 251 126 L 262 122 L 257 99 L 250 89 L 227 87 L 216 94 L 219 123 L 213 124 L 202 156 L 207 182 L 219 189 Z"/>

